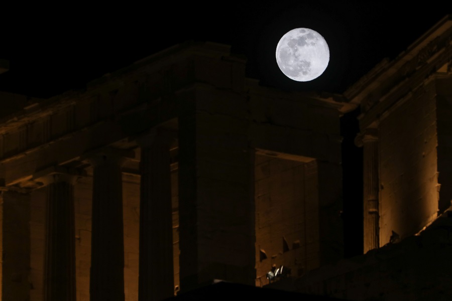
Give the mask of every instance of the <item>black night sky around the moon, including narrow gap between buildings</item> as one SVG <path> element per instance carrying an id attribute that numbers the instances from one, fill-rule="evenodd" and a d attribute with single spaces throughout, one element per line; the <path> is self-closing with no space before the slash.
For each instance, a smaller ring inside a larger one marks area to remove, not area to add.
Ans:
<path id="1" fill-rule="evenodd" d="M 150 2 L 149 4 L 151 4 Z M 165 1 L 149 7 L 3 9 L 0 58 L 10 71 L 0 91 L 51 97 L 188 40 L 231 45 L 247 58 L 247 76 L 287 91 L 342 93 L 385 57 L 394 59 L 446 14 L 436 0 L 404 7 L 397 1 Z M 414 2 L 413 2 L 414 3 Z M 295 82 L 275 61 L 279 39 L 289 30 L 311 28 L 328 43 L 330 62 L 311 82 Z M 356 116 L 341 119 L 344 136 L 346 256 L 362 252 L 362 152 L 353 144 Z M 353 229 L 353 230 L 352 230 Z"/>

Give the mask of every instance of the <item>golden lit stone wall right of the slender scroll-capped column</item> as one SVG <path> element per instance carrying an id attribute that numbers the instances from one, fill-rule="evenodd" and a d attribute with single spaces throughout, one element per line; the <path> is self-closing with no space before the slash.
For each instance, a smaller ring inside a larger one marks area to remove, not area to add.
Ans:
<path id="1" fill-rule="evenodd" d="M 380 246 L 392 231 L 415 234 L 438 209 L 436 109 L 431 82 L 383 117 L 380 142 Z"/>

